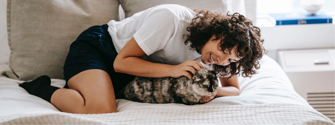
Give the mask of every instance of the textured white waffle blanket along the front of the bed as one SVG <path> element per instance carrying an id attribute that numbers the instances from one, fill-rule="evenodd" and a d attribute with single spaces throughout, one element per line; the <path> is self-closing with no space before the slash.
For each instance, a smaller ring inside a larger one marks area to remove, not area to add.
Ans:
<path id="1" fill-rule="evenodd" d="M 132 109 L 109 114 L 62 112 L 0 117 L 4 125 L 334 125 L 316 110 L 293 104 L 202 106 L 185 109 Z"/>

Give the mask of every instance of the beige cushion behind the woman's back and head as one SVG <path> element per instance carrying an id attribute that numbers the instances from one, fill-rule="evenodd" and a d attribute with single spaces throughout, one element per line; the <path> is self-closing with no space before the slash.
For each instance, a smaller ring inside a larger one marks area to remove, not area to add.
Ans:
<path id="1" fill-rule="evenodd" d="M 178 4 L 189 8 L 208 9 L 226 14 L 231 11 L 231 0 L 119 0 L 125 17 L 161 4 Z"/>

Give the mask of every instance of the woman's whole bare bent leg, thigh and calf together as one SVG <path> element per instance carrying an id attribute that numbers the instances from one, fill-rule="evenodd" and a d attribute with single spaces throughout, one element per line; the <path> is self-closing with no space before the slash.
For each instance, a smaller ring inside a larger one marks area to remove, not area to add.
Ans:
<path id="1" fill-rule="evenodd" d="M 103 114 L 116 112 L 113 84 L 107 72 L 85 70 L 68 81 L 67 88 L 56 90 L 51 104 L 58 110 L 75 114 Z"/>

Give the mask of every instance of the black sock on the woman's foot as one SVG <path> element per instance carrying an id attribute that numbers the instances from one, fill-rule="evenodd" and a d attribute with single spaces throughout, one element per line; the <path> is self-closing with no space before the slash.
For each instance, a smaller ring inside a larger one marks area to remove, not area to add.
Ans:
<path id="1" fill-rule="evenodd" d="M 19 86 L 24 88 L 29 94 L 40 97 L 51 103 L 51 96 L 57 89 L 59 89 L 59 87 L 55 87 L 50 84 L 50 77 L 47 75 L 42 75 L 32 81 L 23 82 L 19 84 Z"/>

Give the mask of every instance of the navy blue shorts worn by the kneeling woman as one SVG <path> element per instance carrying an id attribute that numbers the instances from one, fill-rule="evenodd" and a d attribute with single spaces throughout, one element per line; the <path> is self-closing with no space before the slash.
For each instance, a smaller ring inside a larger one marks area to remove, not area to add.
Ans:
<path id="1" fill-rule="evenodd" d="M 136 77 L 115 72 L 113 63 L 118 53 L 107 29 L 107 24 L 89 27 L 71 44 L 64 64 L 64 88 L 69 88 L 67 81 L 71 77 L 88 69 L 107 72 L 112 79 L 115 93 Z"/>

